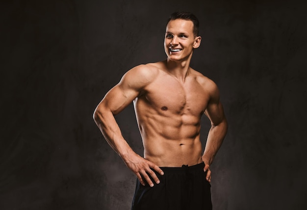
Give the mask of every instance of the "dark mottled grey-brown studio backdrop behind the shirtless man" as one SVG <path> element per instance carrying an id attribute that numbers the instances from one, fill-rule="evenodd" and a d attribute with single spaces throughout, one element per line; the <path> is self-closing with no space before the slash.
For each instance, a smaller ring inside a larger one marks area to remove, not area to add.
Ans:
<path id="1" fill-rule="evenodd" d="M 129 209 L 135 177 L 92 113 L 128 69 L 166 58 L 166 19 L 187 10 L 203 37 L 191 66 L 218 84 L 229 121 L 214 210 L 306 210 L 303 2 L 1 2 L 0 209 Z M 142 154 L 133 107 L 116 118 Z M 204 144 L 208 128 L 204 118 Z"/>

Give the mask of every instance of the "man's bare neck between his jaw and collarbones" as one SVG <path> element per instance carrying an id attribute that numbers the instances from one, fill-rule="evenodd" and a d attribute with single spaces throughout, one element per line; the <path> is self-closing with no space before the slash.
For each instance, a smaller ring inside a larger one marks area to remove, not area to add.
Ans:
<path id="1" fill-rule="evenodd" d="M 185 61 L 172 61 L 167 58 L 165 61 L 166 70 L 175 78 L 184 82 L 189 74 L 190 59 Z"/>

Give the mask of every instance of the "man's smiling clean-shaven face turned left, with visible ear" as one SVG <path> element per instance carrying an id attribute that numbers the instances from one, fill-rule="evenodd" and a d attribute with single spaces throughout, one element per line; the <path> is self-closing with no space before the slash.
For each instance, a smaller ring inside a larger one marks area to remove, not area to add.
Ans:
<path id="1" fill-rule="evenodd" d="M 200 45 L 201 37 L 195 37 L 193 22 L 189 20 L 171 20 L 166 26 L 164 50 L 173 61 L 184 61 L 192 56 L 194 48 Z"/>

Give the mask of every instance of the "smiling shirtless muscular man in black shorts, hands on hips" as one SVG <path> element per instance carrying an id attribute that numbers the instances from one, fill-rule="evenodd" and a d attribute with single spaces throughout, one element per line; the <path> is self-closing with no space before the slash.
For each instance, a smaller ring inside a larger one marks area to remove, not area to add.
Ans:
<path id="1" fill-rule="evenodd" d="M 189 66 L 201 44 L 198 27 L 193 14 L 173 13 L 164 38 L 167 59 L 129 70 L 94 112 L 104 138 L 137 177 L 132 210 L 212 209 L 209 165 L 227 121 L 216 84 Z M 114 119 L 132 101 L 144 157 L 132 151 Z M 202 155 L 204 113 L 211 129 Z"/>

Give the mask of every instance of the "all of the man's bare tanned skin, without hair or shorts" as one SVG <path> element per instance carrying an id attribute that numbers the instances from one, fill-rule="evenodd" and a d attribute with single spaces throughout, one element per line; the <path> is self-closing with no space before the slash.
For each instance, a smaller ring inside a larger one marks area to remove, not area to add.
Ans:
<path id="1" fill-rule="evenodd" d="M 193 22 L 171 20 L 164 39 L 167 59 L 129 70 L 102 99 L 94 119 L 106 141 L 124 160 L 140 183 L 160 181 L 159 167 L 181 167 L 205 162 L 206 180 L 227 132 L 227 121 L 216 84 L 189 64 L 201 37 L 193 34 Z M 144 157 L 136 154 L 121 134 L 114 115 L 131 102 L 141 132 Z M 205 151 L 200 141 L 201 117 L 211 121 Z"/>

